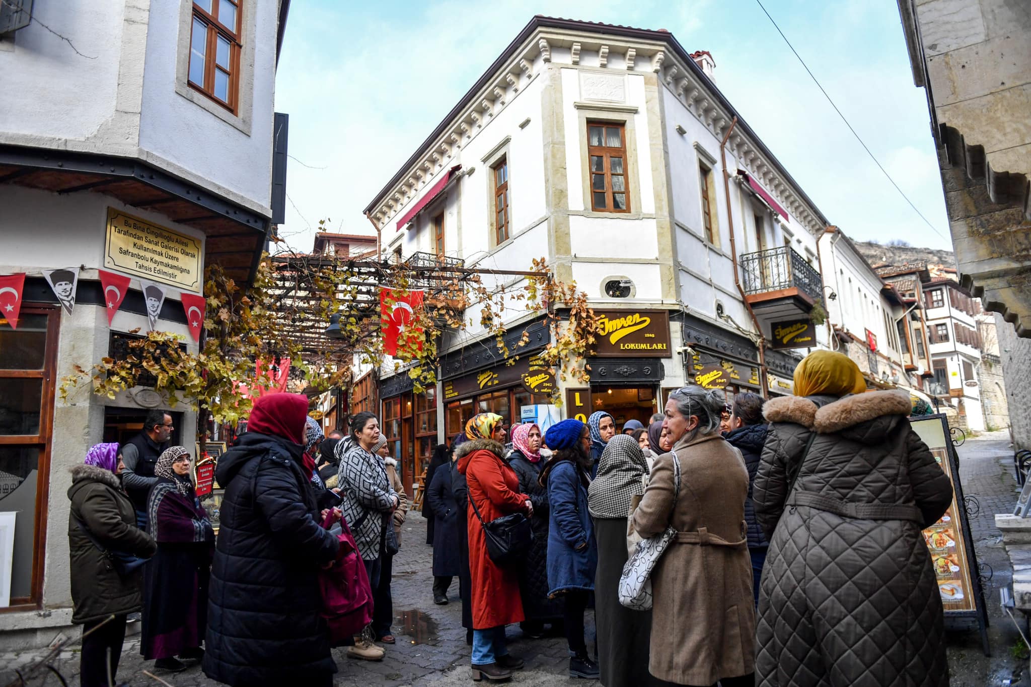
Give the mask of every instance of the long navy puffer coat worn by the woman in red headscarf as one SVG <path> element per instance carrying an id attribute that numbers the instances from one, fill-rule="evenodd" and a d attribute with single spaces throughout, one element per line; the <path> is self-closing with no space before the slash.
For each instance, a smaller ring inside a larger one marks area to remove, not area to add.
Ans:
<path id="1" fill-rule="evenodd" d="M 226 493 L 204 655 L 204 674 L 219 682 L 300 685 L 336 672 L 318 574 L 339 543 L 317 522 L 302 451 L 247 432 L 219 459 L 215 479 Z"/>

